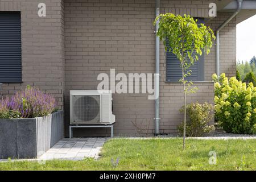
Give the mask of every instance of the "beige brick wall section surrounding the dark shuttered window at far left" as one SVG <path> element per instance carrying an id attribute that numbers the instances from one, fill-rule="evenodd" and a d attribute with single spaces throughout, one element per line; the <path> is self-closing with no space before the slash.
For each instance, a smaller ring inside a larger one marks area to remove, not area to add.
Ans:
<path id="1" fill-rule="evenodd" d="M 38 16 L 39 0 L 0 0 L 0 11 L 20 11 L 22 83 L 3 84 L 1 96 L 27 85 L 52 93 L 63 106 L 64 17 L 61 0 L 44 1 L 47 16 Z"/>

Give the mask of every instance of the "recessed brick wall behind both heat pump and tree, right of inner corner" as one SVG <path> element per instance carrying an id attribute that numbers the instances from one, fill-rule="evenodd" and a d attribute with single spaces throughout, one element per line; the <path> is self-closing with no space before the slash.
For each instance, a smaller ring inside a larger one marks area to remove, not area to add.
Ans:
<path id="1" fill-rule="evenodd" d="M 109 73 L 110 68 L 115 68 L 117 73 L 154 73 L 155 35 L 152 22 L 155 18 L 155 1 L 65 0 L 64 2 L 66 51 L 64 95 L 66 117 L 69 118 L 69 90 L 97 89 L 97 84 L 100 82 L 97 81 L 99 73 Z M 161 11 L 207 18 L 210 2 L 161 1 Z M 221 18 L 211 22 L 210 26 L 213 28 L 218 26 L 221 20 L 224 20 Z M 233 50 L 228 54 L 233 55 Z M 199 91 L 189 96 L 189 101 L 213 103 L 213 83 L 210 82 L 210 76 L 215 69 L 214 55 L 213 48 L 210 55 L 205 58 L 207 82 L 195 84 Z M 228 61 L 231 63 L 230 60 L 226 60 L 227 64 Z M 174 133 L 177 124 L 181 122 L 181 114 L 178 110 L 183 104 L 183 97 L 180 84 L 165 82 L 163 45 L 160 70 L 160 118 L 162 118 L 160 132 Z M 113 94 L 113 100 L 113 113 L 117 120 L 115 135 L 141 134 L 138 133 L 138 128 L 144 129 L 143 133 L 154 133 L 154 101 L 147 100 L 146 94 Z M 67 126 L 68 122 L 67 119 Z M 137 123 L 138 128 L 133 123 Z M 98 133 L 106 135 L 108 131 L 100 129 L 75 131 L 77 135 Z"/>

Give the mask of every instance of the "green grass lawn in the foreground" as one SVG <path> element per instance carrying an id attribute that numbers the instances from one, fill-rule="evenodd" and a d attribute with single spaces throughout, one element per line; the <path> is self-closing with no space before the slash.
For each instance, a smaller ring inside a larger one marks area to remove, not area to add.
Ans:
<path id="1" fill-rule="evenodd" d="M 217 164 L 210 165 L 209 151 L 216 151 Z M 81 161 L 49 160 L 0 163 L 0 170 L 255 170 L 256 139 L 111 139 L 101 158 Z M 111 160 L 119 157 L 115 166 Z"/>

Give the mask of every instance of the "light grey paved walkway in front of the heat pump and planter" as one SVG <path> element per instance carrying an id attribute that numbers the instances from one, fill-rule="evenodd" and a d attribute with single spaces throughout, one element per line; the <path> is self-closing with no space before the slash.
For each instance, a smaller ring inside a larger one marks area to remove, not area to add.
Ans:
<path id="1" fill-rule="evenodd" d="M 64 159 L 82 160 L 98 159 L 98 154 L 108 138 L 72 138 L 61 139 L 50 150 L 40 156 L 39 160 Z"/>

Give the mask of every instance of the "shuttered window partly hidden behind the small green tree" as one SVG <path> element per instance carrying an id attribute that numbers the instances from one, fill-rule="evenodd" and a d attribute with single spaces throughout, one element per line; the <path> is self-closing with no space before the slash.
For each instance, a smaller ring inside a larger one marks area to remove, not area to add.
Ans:
<path id="1" fill-rule="evenodd" d="M 204 23 L 203 18 L 197 18 L 197 23 Z M 167 41 L 168 46 L 168 41 Z M 199 60 L 189 68 L 192 73 L 186 77 L 186 80 L 203 81 L 204 80 L 204 54 L 199 57 Z M 172 52 L 166 52 L 166 82 L 176 82 L 182 77 L 180 61 Z"/>

